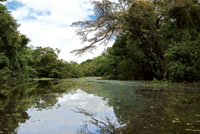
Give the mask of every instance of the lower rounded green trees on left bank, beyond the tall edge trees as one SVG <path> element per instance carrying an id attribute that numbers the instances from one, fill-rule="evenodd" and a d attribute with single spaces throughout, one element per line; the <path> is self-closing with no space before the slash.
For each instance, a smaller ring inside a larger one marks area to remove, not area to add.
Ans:
<path id="1" fill-rule="evenodd" d="M 46 78 L 78 78 L 81 76 L 79 65 L 58 59 L 60 50 L 49 47 L 37 47 L 33 50 L 32 66 L 38 77 Z"/>

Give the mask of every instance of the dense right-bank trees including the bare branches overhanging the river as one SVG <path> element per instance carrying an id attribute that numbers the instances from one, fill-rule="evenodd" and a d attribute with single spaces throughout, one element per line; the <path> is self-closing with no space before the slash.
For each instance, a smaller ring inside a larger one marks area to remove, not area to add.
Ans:
<path id="1" fill-rule="evenodd" d="M 123 80 L 200 79 L 197 0 L 102 0 L 93 5 L 96 19 L 73 24 L 79 26 L 81 39 L 90 44 L 73 52 L 81 54 L 113 38 L 115 43 L 83 63 L 85 68 L 96 65 L 86 75 Z"/>

